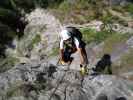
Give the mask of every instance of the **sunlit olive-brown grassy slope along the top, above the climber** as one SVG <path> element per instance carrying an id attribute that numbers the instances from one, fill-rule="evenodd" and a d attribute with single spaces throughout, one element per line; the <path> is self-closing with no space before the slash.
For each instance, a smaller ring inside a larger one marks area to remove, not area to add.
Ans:
<path id="1" fill-rule="evenodd" d="M 113 9 L 121 14 L 125 14 L 125 12 L 132 14 L 133 4 L 129 3 L 128 5 L 125 4 L 123 6 L 109 6 L 103 0 L 77 0 L 75 2 L 64 0 L 51 10 L 61 22 L 83 24 L 91 20 L 98 19 L 105 23 L 124 23 L 119 17 L 109 13 L 109 9 Z"/>

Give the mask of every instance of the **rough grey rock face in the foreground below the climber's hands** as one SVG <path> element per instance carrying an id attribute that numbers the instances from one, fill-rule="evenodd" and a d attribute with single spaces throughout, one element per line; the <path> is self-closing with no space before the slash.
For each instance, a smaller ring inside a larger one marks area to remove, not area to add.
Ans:
<path id="1" fill-rule="evenodd" d="M 65 71 L 44 61 L 16 65 L 0 74 L 1 100 L 132 100 L 133 82 L 109 75 Z M 121 99 L 120 99 L 121 100 Z"/>

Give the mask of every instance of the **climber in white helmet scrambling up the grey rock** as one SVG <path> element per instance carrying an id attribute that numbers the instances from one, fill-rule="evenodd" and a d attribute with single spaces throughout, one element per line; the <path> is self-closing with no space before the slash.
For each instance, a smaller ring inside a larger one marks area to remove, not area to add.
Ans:
<path id="1" fill-rule="evenodd" d="M 60 33 L 60 61 L 61 64 L 70 62 L 71 54 L 76 51 L 80 54 L 80 64 L 87 65 L 88 59 L 85 50 L 85 43 L 82 40 L 81 32 L 75 27 L 66 27 Z"/>

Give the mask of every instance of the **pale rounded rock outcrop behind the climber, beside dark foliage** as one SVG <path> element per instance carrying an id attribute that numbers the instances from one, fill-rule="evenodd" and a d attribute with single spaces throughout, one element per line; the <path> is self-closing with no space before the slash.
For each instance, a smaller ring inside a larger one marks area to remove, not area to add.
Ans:
<path id="1" fill-rule="evenodd" d="M 25 21 L 28 24 L 23 39 L 17 41 L 16 55 L 38 59 L 40 55 L 50 54 L 58 46 L 59 20 L 44 9 L 37 8 L 25 15 Z"/>

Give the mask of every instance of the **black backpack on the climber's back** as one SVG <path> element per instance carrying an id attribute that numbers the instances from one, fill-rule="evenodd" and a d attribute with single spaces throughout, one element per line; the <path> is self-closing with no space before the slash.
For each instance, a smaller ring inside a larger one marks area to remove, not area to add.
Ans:
<path id="1" fill-rule="evenodd" d="M 79 41 L 82 40 L 82 33 L 76 27 L 66 27 L 67 31 L 71 34 L 71 37 L 76 37 Z"/>

